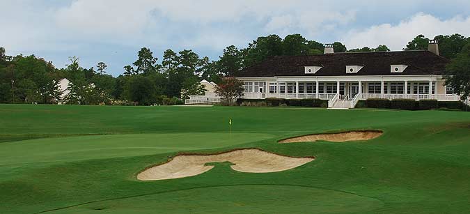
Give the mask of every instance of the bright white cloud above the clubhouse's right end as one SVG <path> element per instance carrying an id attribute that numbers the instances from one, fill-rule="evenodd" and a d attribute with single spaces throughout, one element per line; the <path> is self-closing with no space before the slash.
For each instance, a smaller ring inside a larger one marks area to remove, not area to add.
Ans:
<path id="1" fill-rule="evenodd" d="M 470 36 L 470 16 L 455 16 L 441 20 L 425 13 L 417 13 L 398 24 L 379 24 L 368 29 L 353 29 L 345 33 L 343 41 L 348 48 L 377 47 L 387 45 L 390 49 L 401 50 L 419 34 L 428 38 L 438 35 L 460 33 Z"/>

